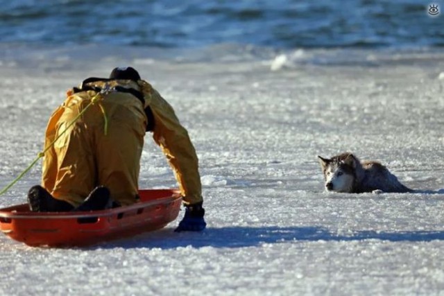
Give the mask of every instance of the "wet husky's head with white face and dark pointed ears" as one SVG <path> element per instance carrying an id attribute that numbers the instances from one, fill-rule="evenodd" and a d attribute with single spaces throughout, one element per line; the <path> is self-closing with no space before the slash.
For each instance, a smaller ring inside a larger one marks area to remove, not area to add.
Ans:
<path id="1" fill-rule="evenodd" d="M 356 157 L 351 153 L 343 153 L 330 159 L 318 158 L 325 179 L 325 190 L 352 193 L 356 180 Z"/>

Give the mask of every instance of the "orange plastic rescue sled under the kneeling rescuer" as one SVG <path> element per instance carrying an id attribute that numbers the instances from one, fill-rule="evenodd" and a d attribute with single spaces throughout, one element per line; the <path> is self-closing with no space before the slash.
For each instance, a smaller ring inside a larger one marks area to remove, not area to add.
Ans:
<path id="1" fill-rule="evenodd" d="M 35 213 L 28 204 L 0 209 L 0 230 L 31 246 L 84 246 L 165 227 L 179 214 L 177 189 L 140 190 L 140 202 L 103 211 Z"/>

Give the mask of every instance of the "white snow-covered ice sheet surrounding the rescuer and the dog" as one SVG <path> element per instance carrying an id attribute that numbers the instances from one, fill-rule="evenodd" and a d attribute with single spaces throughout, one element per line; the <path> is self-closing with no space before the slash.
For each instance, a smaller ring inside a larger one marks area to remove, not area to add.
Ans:
<path id="1" fill-rule="evenodd" d="M 441 295 L 442 51 L 3 46 L 0 185 L 42 150 L 51 112 L 89 76 L 132 65 L 200 159 L 207 229 L 87 248 L 0 236 L 0 295 Z M 101 55 L 99 55 L 99 53 Z M 420 193 L 325 193 L 317 155 L 351 151 Z M 175 187 L 146 135 L 141 188 Z M 26 201 L 40 164 L 0 198 Z"/>

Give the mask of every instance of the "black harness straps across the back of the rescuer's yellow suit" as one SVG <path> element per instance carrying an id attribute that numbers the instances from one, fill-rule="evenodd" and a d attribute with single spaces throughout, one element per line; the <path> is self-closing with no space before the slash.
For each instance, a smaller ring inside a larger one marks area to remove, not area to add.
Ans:
<path id="1" fill-rule="evenodd" d="M 73 87 L 74 94 L 76 94 L 78 92 L 87 92 L 87 91 L 101 92 L 102 89 L 100 87 L 92 87 L 92 86 L 87 85 L 87 84 L 91 83 L 91 82 L 110 81 L 110 80 L 114 80 L 114 79 L 97 78 L 97 77 L 87 78 L 87 79 L 83 80 L 82 85 L 80 86 L 80 88 L 79 87 Z M 126 93 L 126 94 L 131 94 L 131 95 L 135 96 L 135 98 L 137 98 L 142 103 L 142 105 L 145 105 L 144 94 L 142 94 L 142 92 L 139 92 L 136 89 L 121 87 L 120 85 L 117 85 L 117 86 L 114 87 L 114 91 L 116 91 L 116 92 L 123 92 L 123 93 Z M 153 132 L 154 125 L 155 125 L 153 110 L 151 110 L 150 106 L 146 106 L 144 111 L 145 111 L 146 118 L 148 119 L 148 123 L 146 124 L 146 131 L 147 132 Z"/>

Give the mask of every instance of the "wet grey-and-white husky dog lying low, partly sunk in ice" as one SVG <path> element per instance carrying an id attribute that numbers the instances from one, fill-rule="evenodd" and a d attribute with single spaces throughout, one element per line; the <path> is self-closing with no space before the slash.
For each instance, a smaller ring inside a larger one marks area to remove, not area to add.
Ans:
<path id="1" fill-rule="evenodd" d="M 343 193 L 413 192 L 379 162 L 361 162 L 352 153 L 330 159 L 318 156 L 325 178 L 325 190 Z"/>

